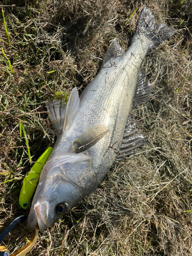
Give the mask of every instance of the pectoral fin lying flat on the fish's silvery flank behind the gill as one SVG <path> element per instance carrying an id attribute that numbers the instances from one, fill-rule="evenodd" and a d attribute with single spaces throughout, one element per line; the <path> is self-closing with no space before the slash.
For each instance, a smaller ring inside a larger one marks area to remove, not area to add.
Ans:
<path id="1" fill-rule="evenodd" d="M 100 124 L 89 127 L 74 140 L 73 145 L 75 153 L 78 154 L 88 150 L 88 148 L 102 139 L 106 133 L 108 133 L 108 129 Z"/>

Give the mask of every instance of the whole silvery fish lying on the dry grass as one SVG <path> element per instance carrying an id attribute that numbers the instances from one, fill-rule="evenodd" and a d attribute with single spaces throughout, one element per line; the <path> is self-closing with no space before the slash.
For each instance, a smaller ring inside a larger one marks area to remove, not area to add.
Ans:
<path id="1" fill-rule="evenodd" d="M 102 182 L 115 161 L 146 142 L 130 114 L 150 98 L 151 86 L 141 64 L 146 55 L 176 30 L 156 24 L 142 9 L 129 49 L 115 38 L 99 73 L 80 97 L 75 87 L 68 103 L 46 102 L 57 140 L 42 169 L 27 228 L 52 226 Z"/>

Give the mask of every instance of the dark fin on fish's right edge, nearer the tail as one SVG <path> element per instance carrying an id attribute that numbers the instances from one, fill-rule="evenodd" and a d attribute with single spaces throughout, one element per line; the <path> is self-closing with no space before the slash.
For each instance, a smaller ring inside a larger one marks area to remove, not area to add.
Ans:
<path id="1" fill-rule="evenodd" d="M 145 73 L 140 70 L 137 78 L 137 90 L 135 92 L 133 107 L 150 99 L 150 93 L 151 84 L 148 81 Z"/>

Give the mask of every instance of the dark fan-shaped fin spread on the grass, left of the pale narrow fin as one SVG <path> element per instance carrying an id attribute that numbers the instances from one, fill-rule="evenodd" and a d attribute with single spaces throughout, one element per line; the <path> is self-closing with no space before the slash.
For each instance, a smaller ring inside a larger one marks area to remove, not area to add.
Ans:
<path id="1" fill-rule="evenodd" d="M 46 106 L 51 119 L 51 123 L 53 124 L 56 132 L 62 131 L 63 123 L 66 114 L 66 103 L 61 100 L 52 100 L 47 101 Z"/>

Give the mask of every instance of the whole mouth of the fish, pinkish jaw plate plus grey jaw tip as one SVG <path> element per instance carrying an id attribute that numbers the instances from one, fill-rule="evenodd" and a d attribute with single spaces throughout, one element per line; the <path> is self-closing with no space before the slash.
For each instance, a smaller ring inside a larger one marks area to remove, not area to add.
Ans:
<path id="1" fill-rule="evenodd" d="M 49 207 L 50 207 L 50 204 L 47 201 L 43 202 L 43 203 L 37 202 L 34 205 L 34 210 L 33 210 L 34 218 L 33 218 L 32 222 L 31 222 L 30 218 L 28 219 L 28 229 L 29 230 L 33 230 L 35 228 L 36 224 L 38 224 L 40 231 L 42 231 L 48 227 Z"/>

